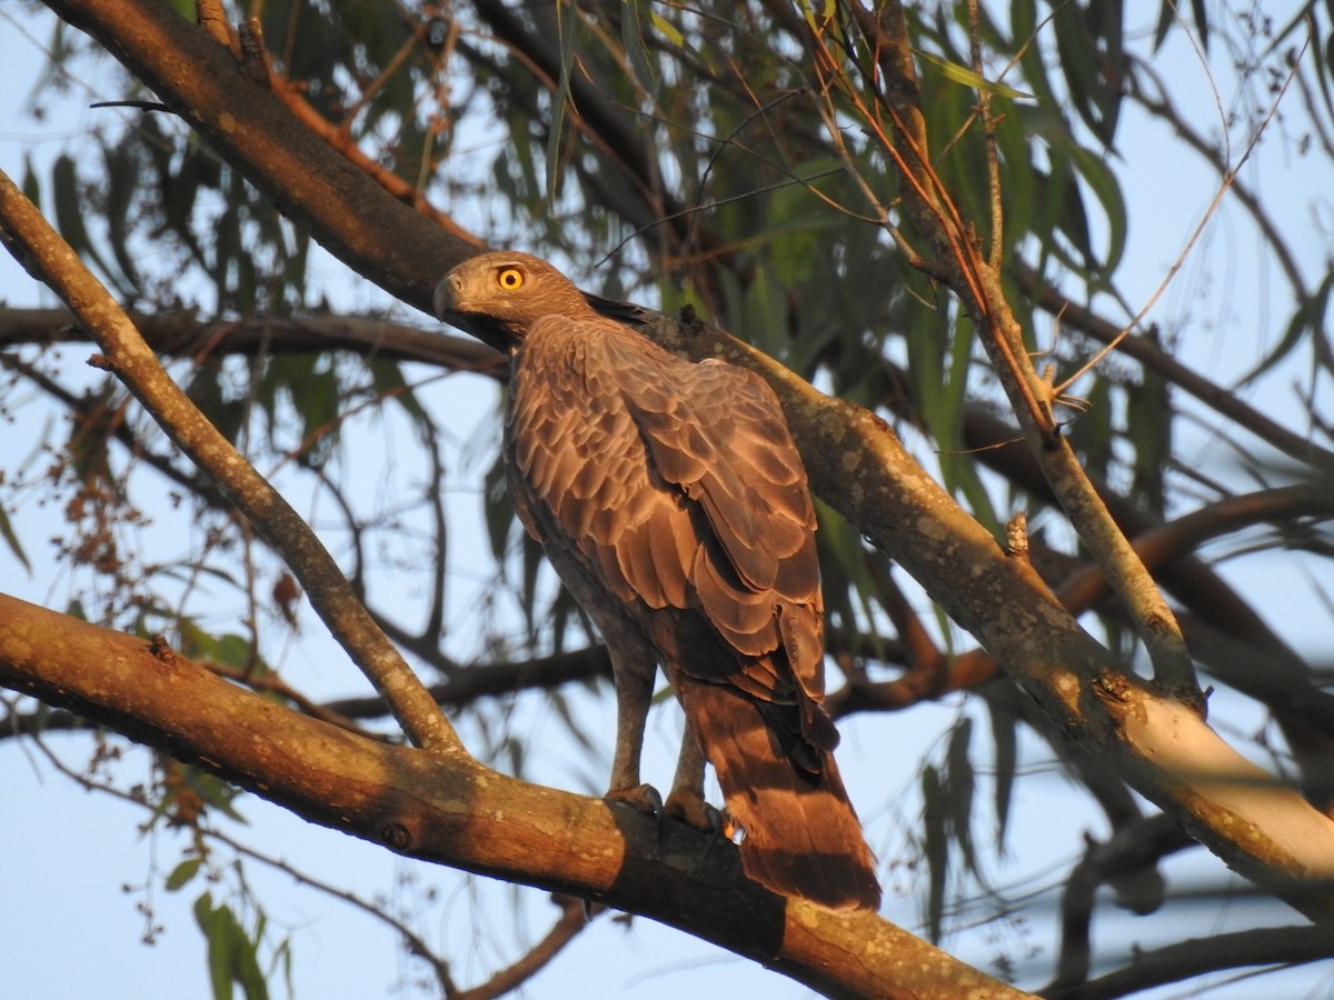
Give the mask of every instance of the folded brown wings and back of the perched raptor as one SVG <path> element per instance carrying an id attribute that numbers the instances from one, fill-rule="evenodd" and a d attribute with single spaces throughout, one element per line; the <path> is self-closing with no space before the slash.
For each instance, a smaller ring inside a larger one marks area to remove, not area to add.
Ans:
<path id="1" fill-rule="evenodd" d="M 688 657 L 699 679 L 819 701 L 815 513 L 771 389 L 607 320 L 543 319 L 524 352 L 508 432 L 530 528 L 579 544 L 623 601 L 702 613 L 744 668 Z"/>

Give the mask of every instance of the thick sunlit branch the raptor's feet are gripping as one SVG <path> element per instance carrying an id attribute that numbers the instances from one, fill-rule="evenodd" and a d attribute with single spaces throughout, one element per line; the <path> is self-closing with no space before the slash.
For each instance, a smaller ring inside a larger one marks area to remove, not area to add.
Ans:
<path id="1" fill-rule="evenodd" d="M 0 596 L 0 685 L 68 708 L 296 815 L 424 861 L 679 927 L 827 996 L 1026 996 L 875 915 L 746 880 L 735 848 L 490 771 L 367 740 L 148 643 Z"/>

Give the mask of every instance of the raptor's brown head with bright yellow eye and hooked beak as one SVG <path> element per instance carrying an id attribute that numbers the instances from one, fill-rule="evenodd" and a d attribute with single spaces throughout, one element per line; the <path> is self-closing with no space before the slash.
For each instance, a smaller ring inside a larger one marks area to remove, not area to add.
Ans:
<path id="1" fill-rule="evenodd" d="M 498 340 L 523 340 L 543 316 L 590 313 L 570 279 L 528 253 L 468 257 L 435 287 L 436 316 L 498 347 Z"/>

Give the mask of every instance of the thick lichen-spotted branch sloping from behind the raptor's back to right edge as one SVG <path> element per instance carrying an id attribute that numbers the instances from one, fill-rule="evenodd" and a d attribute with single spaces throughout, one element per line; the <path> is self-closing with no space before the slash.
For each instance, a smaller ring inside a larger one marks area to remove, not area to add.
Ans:
<path id="1" fill-rule="evenodd" d="M 1239 872 L 1334 923 L 1326 883 L 1334 823 L 1245 760 L 1193 708 L 1121 673 L 1033 567 L 1007 559 L 888 424 L 698 321 L 660 323 L 655 336 L 695 359 L 724 357 L 764 376 L 814 489 L 902 564 L 1059 727 Z"/>

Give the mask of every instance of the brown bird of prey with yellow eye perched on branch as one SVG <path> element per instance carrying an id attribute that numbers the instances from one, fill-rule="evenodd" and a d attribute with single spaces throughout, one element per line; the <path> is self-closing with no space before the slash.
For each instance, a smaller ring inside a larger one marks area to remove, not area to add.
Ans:
<path id="1" fill-rule="evenodd" d="M 660 664 L 687 720 L 667 813 L 708 825 L 707 757 L 748 877 L 828 909 L 878 907 L 820 708 L 815 512 L 774 392 L 600 316 L 526 253 L 464 261 L 435 307 L 510 349 L 510 489 L 611 653 L 607 797 L 654 809 L 639 756 Z"/>

